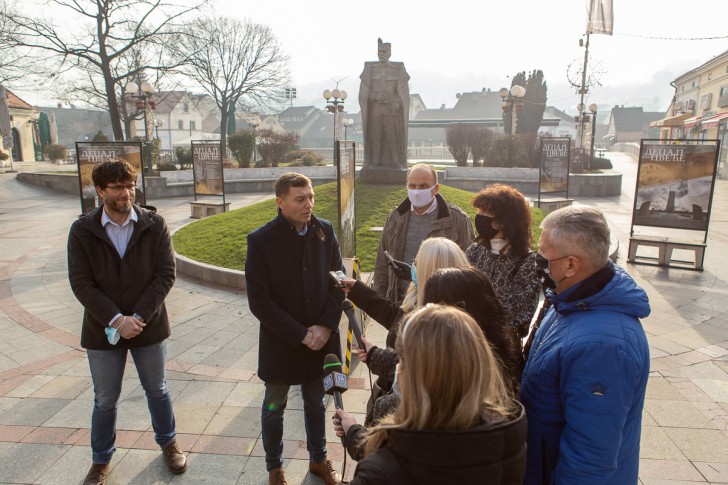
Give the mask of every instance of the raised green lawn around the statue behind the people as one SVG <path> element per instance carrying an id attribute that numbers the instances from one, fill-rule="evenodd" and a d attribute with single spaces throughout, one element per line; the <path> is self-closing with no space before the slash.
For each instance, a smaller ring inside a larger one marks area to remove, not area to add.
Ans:
<path id="1" fill-rule="evenodd" d="M 319 185 L 315 187 L 315 192 L 314 214 L 337 226 L 336 183 Z M 440 193 L 448 202 L 459 205 L 471 218 L 475 217 L 475 209 L 470 205 L 474 195 L 472 192 L 441 185 Z M 356 247 L 362 271 L 374 269 L 379 245 L 379 233 L 371 232 L 370 228 L 384 225 L 389 211 L 405 197 L 405 187 L 368 184 L 356 186 Z M 531 212 L 536 227 L 535 240 L 538 241 L 538 224 L 543 219 L 543 214 L 539 209 L 532 209 Z M 174 247 L 178 253 L 203 263 L 244 270 L 248 234 L 275 216 L 276 204 L 271 199 L 208 217 L 177 231 L 174 235 Z"/>

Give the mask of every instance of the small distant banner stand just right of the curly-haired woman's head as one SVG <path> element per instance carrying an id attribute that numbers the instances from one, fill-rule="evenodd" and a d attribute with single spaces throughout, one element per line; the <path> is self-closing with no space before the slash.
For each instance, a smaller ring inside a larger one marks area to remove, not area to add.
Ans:
<path id="1" fill-rule="evenodd" d="M 574 201 L 569 198 L 571 138 L 542 137 L 540 145 L 536 207 L 548 213 L 569 206 Z M 554 194 L 556 197 L 545 199 L 541 194 Z"/>

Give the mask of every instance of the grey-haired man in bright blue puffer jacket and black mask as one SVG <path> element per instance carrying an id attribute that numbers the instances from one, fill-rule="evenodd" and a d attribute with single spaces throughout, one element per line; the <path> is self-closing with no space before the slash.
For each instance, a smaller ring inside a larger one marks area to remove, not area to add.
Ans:
<path id="1" fill-rule="evenodd" d="M 636 484 L 650 353 L 645 291 L 609 260 L 609 226 L 590 207 L 542 222 L 536 264 L 552 306 L 521 380 L 524 484 Z"/>

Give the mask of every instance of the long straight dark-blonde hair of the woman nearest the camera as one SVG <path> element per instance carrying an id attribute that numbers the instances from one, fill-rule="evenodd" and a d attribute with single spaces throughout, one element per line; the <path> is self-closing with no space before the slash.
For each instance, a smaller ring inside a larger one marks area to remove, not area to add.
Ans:
<path id="1" fill-rule="evenodd" d="M 400 403 L 366 435 L 365 454 L 396 429 L 466 430 L 514 416 L 500 364 L 475 320 L 457 307 L 427 304 L 397 338 Z"/>

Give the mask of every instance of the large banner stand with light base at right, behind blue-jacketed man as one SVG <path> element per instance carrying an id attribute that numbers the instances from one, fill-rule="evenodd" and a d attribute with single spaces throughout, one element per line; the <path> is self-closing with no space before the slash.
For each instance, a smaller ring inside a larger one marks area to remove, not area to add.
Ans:
<path id="1" fill-rule="evenodd" d="M 641 140 L 628 262 L 703 271 L 719 152 L 719 140 Z M 635 226 L 662 230 L 636 234 Z M 693 257 L 674 258 L 675 250 Z"/>

